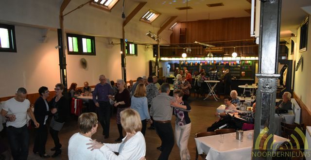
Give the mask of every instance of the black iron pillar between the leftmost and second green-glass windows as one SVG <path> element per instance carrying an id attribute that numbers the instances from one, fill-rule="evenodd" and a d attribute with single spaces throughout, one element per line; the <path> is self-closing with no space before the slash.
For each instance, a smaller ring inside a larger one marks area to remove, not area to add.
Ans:
<path id="1" fill-rule="evenodd" d="M 64 53 L 62 29 L 57 29 L 58 38 L 58 56 L 60 69 L 60 82 L 65 85 L 64 95 L 67 95 L 67 71 L 66 71 L 66 55 Z"/>

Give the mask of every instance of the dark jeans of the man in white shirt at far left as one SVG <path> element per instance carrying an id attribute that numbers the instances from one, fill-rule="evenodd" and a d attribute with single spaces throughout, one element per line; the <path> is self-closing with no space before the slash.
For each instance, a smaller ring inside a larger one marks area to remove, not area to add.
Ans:
<path id="1" fill-rule="evenodd" d="M 29 131 L 27 125 L 21 128 L 6 128 L 12 156 L 14 160 L 27 160 L 29 148 Z"/>

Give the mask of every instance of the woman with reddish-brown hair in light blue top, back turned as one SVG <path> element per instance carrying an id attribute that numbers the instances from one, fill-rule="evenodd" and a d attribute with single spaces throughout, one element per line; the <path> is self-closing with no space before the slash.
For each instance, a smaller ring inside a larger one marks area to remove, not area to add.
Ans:
<path id="1" fill-rule="evenodd" d="M 131 109 L 136 110 L 140 115 L 141 120 L 141 133 L 145 136 L 147 121 L 152 122 L 148 112 L 148 100 L 146 97 L 146 87 L 144 84 L 140 83 L 136 87 L 134 95 L 131 99 Z"/>

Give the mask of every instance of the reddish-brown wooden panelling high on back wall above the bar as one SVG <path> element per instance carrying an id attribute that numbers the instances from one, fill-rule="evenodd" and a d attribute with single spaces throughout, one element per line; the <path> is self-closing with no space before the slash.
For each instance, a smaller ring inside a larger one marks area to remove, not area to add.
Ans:
<path id="1" fill-rule="evenodd" d="M 200 20 L 178 23 L 173 28 L 171 43 L 180 42 L 180 29 L 187 28 L 187 42 L 213 42 L 227 40 L 251 39 L 250 17 Z"/>

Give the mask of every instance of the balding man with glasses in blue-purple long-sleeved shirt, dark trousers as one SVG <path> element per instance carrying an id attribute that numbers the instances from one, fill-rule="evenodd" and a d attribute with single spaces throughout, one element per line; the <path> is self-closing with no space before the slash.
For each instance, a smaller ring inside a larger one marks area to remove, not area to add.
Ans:
<path id="1" fill-rule="evenodd" d="M 109 138 L 110 125 L 110 103 L 109 98 L 112 97 L 113 91 L 111 85 L 107 83 L 104 75 L 99 76 L 100 83 L 96 84 L 93 92 L 93 101 L 97 108 L 98 121 L 103 127 L 103 135 L 105 139 Z M 97 99 L 96 99 L 97 97 Z"/>

